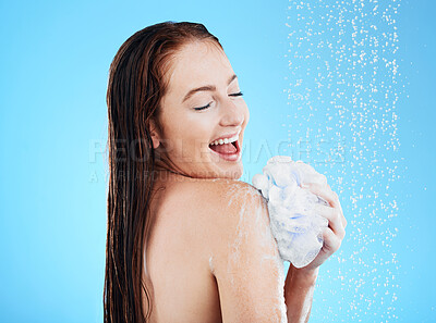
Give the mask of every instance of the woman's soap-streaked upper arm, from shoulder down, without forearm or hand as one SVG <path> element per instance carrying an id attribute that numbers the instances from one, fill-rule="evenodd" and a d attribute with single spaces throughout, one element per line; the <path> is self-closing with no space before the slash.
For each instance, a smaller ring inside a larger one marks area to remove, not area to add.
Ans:
<path id="1" fill-rule="evenodd" d="M 283 263 L 270 232 L 266 201 L 241 183 L 215 191 L 209 209 L 211 273 L 222 322 L 286 323 Z"/>

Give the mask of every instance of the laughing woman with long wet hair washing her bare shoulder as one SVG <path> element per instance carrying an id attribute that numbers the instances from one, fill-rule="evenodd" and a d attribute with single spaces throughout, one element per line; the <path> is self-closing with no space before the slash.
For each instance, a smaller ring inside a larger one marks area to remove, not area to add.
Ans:
<path id="1" fill-rule="evenodd" d="M 307 266 L 282 262 L 266 200 L 242 175 L 249 110 L 218 38 L 166 22 L 110 66 L 105 322 L 301 322 L 318 266 L 343 238 L 330 187 L 308 189 L 330 224 Z"/>

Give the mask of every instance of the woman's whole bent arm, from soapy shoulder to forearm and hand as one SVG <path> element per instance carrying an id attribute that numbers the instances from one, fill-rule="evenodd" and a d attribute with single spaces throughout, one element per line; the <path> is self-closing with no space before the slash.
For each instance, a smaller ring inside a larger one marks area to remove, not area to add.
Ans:
<path id="1" fill-rule="evenodd" d="M 307 266 L 295 269 L 291 264 L 284 279 L 266 200 L 249 184 L 233 185 L 218 190 L 219 185 L 214 185 L 214 189 L 204 190 L 211 198 L 203 199 L 211 222 L 208 231 L 211 268 L 218 284 L 222 321 L 307 322 L 318 266 L 339 248 L 344 235 L 347 222 L 336 212 L 340 208 L 337 196 L 331 191 L 326 194 L 326 188 L 311 188 L 331 201 L 335 210 L 319 207 L 324 208 L 319 213 L 329 219 L 329 227 L 323 233 L 324 247 Z"/>

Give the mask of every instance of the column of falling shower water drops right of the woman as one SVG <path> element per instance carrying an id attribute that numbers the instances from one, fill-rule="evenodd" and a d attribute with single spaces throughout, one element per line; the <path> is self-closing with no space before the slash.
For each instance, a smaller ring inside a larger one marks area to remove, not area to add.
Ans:
<path id="1" fill-rule="evenodd" d="M 289 1 L 289 154 L 325 174 L 348 220 L 323 265 L 314 322 L 398 319 L 398 0 Z"/>

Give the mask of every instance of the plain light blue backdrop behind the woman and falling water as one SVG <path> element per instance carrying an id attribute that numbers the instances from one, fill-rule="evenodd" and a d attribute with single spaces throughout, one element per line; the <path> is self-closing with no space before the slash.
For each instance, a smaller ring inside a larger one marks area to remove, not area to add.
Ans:
<path id="1" fill-rule="evenodd" d="M 220 39 L 251 111 L 242 179 L 291 154 L 340 192 L 347 236 L 311 322 L 434 322 L 436 5 L 343 2 L 1 1 L 0 321 L 102 321 L 109 65 L 136 30 L 191 21 Z M 352 64 L 363 52 L 375 79 Z"/>

